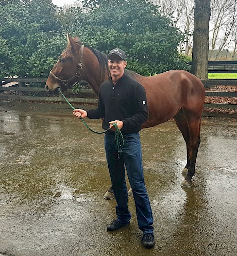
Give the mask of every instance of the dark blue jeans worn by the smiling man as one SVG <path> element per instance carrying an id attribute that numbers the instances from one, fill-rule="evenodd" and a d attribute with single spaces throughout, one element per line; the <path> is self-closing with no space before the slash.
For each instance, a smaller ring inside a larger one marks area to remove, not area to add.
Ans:
<path id="1" fill-rule="evenodd" d="M 140 135 L 139 133 L 132 133 L 123 136 L 124 146 L 121 148 L 123 152 L 120 159 L 118 159 L 114 134 L 105 134 L 105 152 L 112 189 L 117 201 L 117 219 L 123 224 L 128 223 L 131 219 L 131 213 L 128 210 L 128 194 L 125 180 L 126 166 L 136 205 L 139 229 L 143 233 L 153 233 L 153 215 L 144 182 Z"/>

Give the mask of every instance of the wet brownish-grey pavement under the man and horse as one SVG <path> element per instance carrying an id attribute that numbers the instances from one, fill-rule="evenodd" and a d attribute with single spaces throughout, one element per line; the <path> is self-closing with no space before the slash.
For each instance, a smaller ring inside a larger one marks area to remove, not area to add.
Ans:
<path id="1" fill-rule="evenodd" d="M 236 119 L 202 118 L 194 185 L 185 189 L 185 143 L 174 121 L 141 131 L 156 236 L 148 250 L 132 197 L 130 225 L 107 232 L 116 202 L 103 199 L 104 135 L 71 113 L 0 102 L 0 255 L 237 255 Z M 87 121 L 101 131 L 100 120 Z"/>

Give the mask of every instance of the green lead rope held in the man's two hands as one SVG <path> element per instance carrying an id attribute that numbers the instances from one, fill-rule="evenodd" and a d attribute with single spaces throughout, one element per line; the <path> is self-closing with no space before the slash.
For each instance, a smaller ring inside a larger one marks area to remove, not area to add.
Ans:
<path id="1" fill-rule="evenodd" d="M 69 106 L 72 109 L 75 109 L 75 107 L 66 99 L 66 97 L 64 96 L 64 94 L 62 93 L 62 91 L 60 90 L 60 88 L 58 88 L 60 94 L 62 95 L 62 98 L 66 101 L 67 104 L 69 104 Z M 103 132 L 96 132 L 94 130 L 92 130 L 89 125 L 86 123 L 86 121 L 84 121 L 84 119 L 82 117 L 80 117 L 81 121 L 83 122 L 83 124 L 87 127 L 88 130 L 90 130 L 93 133 L 96 134 L 102 134 L 102 133 L 106 133 L 110 130 L 110 128 L 108 128 L 107 130 L 103 131 Z M 118 159 L 120 159 L 121 154 L 123 153 L 123 150 L 121 149 L 124 146 L 124 137 L 123 134 L 121 133 L 120 129 L 118 129 L 117 124 L 113 123 L 113 126 L 116 128 L 116 132 L 115 132 L 115 141 L 116 141 L 116 145 L 117 145 L 117 149 L 118 149 Z"/>

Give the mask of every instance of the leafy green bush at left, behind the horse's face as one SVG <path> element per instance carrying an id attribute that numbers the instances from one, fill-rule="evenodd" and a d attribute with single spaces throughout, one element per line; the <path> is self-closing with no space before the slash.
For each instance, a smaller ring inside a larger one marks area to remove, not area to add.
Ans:
<path id="1" fill-rule="evenodd" d="M 63 49 L 62 40 L 56 40 L 60 26 L 55 6 L 50 0 L 3 1 L 0 15 L 5 49 L 0 75 L 46 76 Z"/>

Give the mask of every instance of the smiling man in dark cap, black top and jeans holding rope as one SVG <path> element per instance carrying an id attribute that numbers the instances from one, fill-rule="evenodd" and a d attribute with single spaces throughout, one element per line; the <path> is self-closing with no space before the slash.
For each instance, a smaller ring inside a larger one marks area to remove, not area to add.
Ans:
<path id="1" fill-rule="evenodd" d="M 127 66 L 126 55 L 121 49 L 113 49 L 108 55 L 109 79 L 101 84 L 98 108 L 91 110 L 75 109 L 76 117 L 91 119 L 103 118 L 105 152 L 113 193 L 117 202 L 117 219 L 108 225 L 108 231 L 120 229 L 130 222 L 128 193 L 125 180 L 125 166 L 136 205 L 139 229 L 143 232 L 142 242 L 146 248 L 155 245 L 153 215 L 148 199 L 142 166 L 142 150 L 139 131 L 148 118 L 146 93 L 143 86 L 124 74 Z M 115 142 L 116 127 L 124 137 L 122 153 L 118 154 Z"/>

